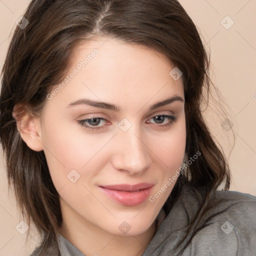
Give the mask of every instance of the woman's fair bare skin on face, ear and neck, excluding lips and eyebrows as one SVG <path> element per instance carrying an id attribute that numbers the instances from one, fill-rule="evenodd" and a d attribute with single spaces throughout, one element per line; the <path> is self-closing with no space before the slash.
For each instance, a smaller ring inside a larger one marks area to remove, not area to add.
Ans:
<path id="1" fill-rule="evenodd" d="M 98 186 L 149 182 L 154 195 L 175 174 L 185 151 L 184 101 L 149 107 L 174 95 L 184 100 L 182 77 L 169 75 L 174 66 L 164 55 L 104 37 L 77 46 L 67 74 L 94 48 L 98 54 L 46 100 L 40 118 L 25 115 L 17 125 L 26 144 L 45 153 L 60 196 L 60 233 L 85 255 L 141 255 L 175 181 L 154 202 L 146 199 L 136 206 L 114 201 Z M 85 104 L 67 107 L 80 98 L 115 104 L 120 111 Z M 153 118 L 163 114 L 176 120 L 164 127 L 167 118 L 162 123 Z M 78 123 L 94 116 L 105 119 L 97 124 L 103 128 L 89 130 Z M 131 123 L 127 131 L 118 126 L 123 118 Z M 80 175 L 74 183 L 67 178 L 72 169 Z M 123 221 L 130 227 L 127 233 L 118 228 Z"/>

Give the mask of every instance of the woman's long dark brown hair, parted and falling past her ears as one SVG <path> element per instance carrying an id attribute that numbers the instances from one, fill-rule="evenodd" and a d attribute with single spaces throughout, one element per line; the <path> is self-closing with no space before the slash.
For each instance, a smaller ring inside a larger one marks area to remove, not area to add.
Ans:
<path id="1" fill-rule="evenodd" d="M 213 141 L 200 109 L 202 103 L 207 105 L 211 88 L 209 60 L 196 26 L 177 0 L 32 0 L 24 17 L 29 24 L 16 27 L 2 69 L 0 140 L 9 187 L 13 185 L 21 213 L 41 234 L 45 251 L 56 243 L 61 226 L 59 196 L 44 152 L 31 150 L 20 137 L 13 106 L 21 102 L 24 111 L 40 116 L 52 86 L 62 81 L 75 46 L 94 36 L 155 49 L 183 73 L 185 159 L 197 151 L 201 155 L 179 175 L 165 212 L 184 184 L 195 190 L 206 186 L 207 196 L 223 182 L 223 189 L 229 188 L 223 150 Z"/>

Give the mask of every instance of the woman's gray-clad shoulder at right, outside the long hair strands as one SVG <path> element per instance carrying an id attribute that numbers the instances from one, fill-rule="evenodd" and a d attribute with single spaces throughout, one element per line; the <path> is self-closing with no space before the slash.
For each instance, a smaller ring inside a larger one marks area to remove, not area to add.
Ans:
<path id="1" fill-rule="evenodd" d="M 256 196 L 217 191 L 187 249 L 201 256 L 256 255 Z"/>

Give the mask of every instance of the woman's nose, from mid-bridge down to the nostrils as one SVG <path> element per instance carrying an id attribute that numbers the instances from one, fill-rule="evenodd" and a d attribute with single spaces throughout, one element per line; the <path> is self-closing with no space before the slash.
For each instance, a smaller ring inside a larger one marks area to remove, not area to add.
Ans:
<path id="1" fill-rule="evenodd" d="M 117 146 L 112 157 L 115 169 L 139 174 L 150 166 L 150 149 L 146 146 L 146 141 L 143 141 L 145 136 L 142 138 L 138 129 L 131 126 L 127 131 L 118 130 L 115 139 Z"/>

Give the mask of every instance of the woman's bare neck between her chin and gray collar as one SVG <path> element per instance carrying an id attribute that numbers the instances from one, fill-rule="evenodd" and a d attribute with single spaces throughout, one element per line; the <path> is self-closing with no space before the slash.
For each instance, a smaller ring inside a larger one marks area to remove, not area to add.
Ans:
<path id="1" fill-rule="evenodd" d="M 68 221 L 70 215 L 64 213 L 62 218 L 59 233 L 84 255 L 141 256 L 157 230 L 157 220 L 154 220 L 141 234 L 120 236 L 102 230 L 82 217 Z"/>

